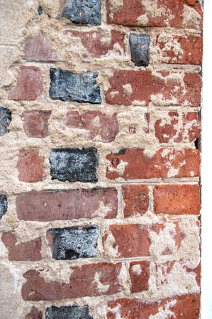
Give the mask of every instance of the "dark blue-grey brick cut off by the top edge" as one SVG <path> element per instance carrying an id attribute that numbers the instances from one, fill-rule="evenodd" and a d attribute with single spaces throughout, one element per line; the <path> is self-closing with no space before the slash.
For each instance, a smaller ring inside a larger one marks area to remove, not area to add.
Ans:
<path id="1" fill-rule="evenodd" d="M 99 26 L 101 24 L 101 1 L 67 0 L 62 11 L 62 16 L 65 16 L 73 23 Z"/>

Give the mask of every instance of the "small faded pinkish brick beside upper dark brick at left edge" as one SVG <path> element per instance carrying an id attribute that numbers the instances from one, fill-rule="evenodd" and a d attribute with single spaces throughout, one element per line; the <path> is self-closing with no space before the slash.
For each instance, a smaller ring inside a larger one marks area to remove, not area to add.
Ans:
<path id="1" fill-rule="evenodd" d="M 28 137 L 40 139 L 49 135 L 48 120 L 52 111 L 28 111 L 23 112 L 23 130 Z"/>

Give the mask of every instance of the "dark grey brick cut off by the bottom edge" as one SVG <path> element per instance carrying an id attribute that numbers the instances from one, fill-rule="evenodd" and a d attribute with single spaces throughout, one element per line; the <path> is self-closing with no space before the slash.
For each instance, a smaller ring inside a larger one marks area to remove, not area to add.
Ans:
<path id="1" fill-rule="evenodd" d="M 89 315 L 89 306 L 51 306 L 45 310 L 45 319 L 93 319 Z"/>

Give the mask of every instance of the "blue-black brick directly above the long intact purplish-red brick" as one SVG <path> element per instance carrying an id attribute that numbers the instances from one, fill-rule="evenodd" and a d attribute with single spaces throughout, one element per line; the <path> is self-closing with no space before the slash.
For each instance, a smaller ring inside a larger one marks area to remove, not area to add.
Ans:
<path id="1" fill-rule="evenodd" d="M 96 183 L 99 155 L 96 148 L 56 148 L 50 153 L 52 180 Z"/>

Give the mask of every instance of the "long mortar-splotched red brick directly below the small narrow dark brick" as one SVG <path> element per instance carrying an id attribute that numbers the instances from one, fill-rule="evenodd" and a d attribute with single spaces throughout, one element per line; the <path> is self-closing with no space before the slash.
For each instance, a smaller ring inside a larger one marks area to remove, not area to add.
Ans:
<path id="1" fill-rule="evenodd" d="M 196 72 L 158 71 L 154 75 L 149 70 L 116 70 L 109 82 L 108 104 L 127 106 L 136 101 L 144 107 L 150 102 L 156 106 L 201 104 L 201 77 Z M 125 85 L 130 85 L 130 92 L 126 92 Z"/>

